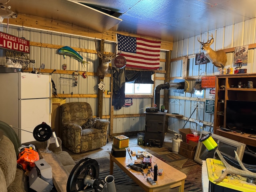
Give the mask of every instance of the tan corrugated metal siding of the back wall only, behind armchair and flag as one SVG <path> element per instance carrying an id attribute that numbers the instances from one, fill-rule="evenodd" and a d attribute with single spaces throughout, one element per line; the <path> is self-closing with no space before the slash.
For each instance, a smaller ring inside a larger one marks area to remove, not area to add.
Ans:
<path id="1" fill-rule="evenodd" d="M 20 28 L 16 26 L 9 26 L 7 29 L 5 24 L 2 24 L 2 32 L 12 34 L 18 37 L 24 37 L 30 42 L 38 42 L 52 45 L 70 46 L 75 48 L 84 48 L 89 50 L 96 50 L 94 39 L 82 36 L 74 36 L 71 34 L 62 34 L 56 32 L 49 32 L 44 30 L 36 30 L 31 28 Z M 100 40 L 96 40 L 97 47 L 100 45 Z M 46 69 L 62 70 L 62 65 L 66 64 L 66 70 L 78 70 L 87 72 L 96 72 L 98 67 L 98 56 L 96 54 L 78 52 L 84 61 L 89 62 L 86 69 L 77 60 L 67 56 L 56 54 L 55 48 L 43 48 L 30 46 L 30 59 L 36 60 L 34 67 L 39 68 L 42 63 L 45 64 Z M 0 63 L 5 65 L 6 51 L 2 51 Z M 105 51 L 115 52 L 115 43 L 105 41 Z M 161 58 L 165 59 L 166 52 L 161 51 Z M 160 62 L 160 66 L 165 68 L 165 62 Z M 28 65 L 32 68 L 32 64 Z M 164 74 L 157 74 L 158 77 L 164 77 Z M 84 79 L 82 76 L 78 77 L 77 86 L 73 86 L 73 76 L 69 74 L 52 74 L 52 79 L 56 85 L 57 93 L 59 94 L 98 94 L 98 76 L 88 76 Z M 111 90 L 111 78 L 104 78 L 104 90 Z M 164 81 L 157 80 L 156 85 L 162 84 Z M 40 86 L 40 85 L 38 85 Z M 163 92 L 161 92 L 163 94 Z M 66 98 L 66 102 L 88 102 L 92 106 L 93 115 L 97 114 L 98 98 Z M 162 102 L 162 101 L 161 101 Z M 110 98 L 103 98 L 102 115 L 110 115 Z M 151 99 L 149 98 L 134 98 L 133 105 L 130 107 L 122 107 L 120 110 L 114 110 L 114 114 L 143 114 L 145 108 L 151 106 Z M 132 132 L 144 130 L 144 117 L 132 118 L 114 118 L 113 133 Z"/>

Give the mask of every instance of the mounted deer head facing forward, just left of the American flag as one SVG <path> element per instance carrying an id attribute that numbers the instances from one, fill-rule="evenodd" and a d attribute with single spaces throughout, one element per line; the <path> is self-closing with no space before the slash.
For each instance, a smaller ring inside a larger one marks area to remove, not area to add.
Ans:
<path id="1" fill-rule="evenodd" d="M 94 42 L 95 42 L 95 47 L 96 47 L 98 57 L 101 58 L 101 63 L 99 64 L 99 66 L 97 68 L 97 75 L 101 79 L 104 79 L 105 75 L 108 74 L 109 63 L 111 62 L 112 59 L 114 59 L 116 57 L 116 54 L 113 54 L 113 53 L 104 54 L 104 53 L 98 51 L 98 48 L 96 46 L 96 40 L 94 40 Z M 116 44 L 116 46 L 117 46 L 117 44 Z"/>

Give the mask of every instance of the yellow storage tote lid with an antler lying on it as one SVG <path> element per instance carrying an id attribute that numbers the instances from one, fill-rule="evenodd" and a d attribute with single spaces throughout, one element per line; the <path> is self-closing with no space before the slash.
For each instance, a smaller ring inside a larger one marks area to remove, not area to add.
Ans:
<path id="1" fill-rule="evenodd" d="M 246 177 L 242 177 L 236 174 L 230 174 L 226 176 L 226 178 L 224 178 L 224 180 L 222 180 L 221 182 L 214 182 L 214 180 L 220 177 L 220 175 L 222 174 L 222 170 L 226 168 L 220 160 L 207 158 L 206 166 L 208 172 L 208 179 L 209 182 L 212 182 L 212 184 L 243 192 L 256 191 L 255 184 L 246 182 Z"/>

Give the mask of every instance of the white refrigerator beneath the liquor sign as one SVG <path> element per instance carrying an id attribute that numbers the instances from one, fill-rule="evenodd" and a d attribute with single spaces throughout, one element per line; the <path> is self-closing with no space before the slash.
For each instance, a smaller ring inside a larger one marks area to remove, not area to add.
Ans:
<path id="1" fill-rule="evenodd" d="M 35 140 L 33 130 L 42 122 L 51 126 L 50 75 L 0 73 L 0 90 L 0 120 L 13 127 L 21 143 Z"/>

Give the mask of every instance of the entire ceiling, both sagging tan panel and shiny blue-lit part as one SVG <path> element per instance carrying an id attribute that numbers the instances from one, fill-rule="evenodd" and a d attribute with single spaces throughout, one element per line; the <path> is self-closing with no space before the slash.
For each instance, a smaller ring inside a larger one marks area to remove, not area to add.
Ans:
<path id="1" fill-rule="evenodd" d="M 10 0 L 8 5 L 18 14 L 168 42 L 256 18 L 255 0 Z"/>

